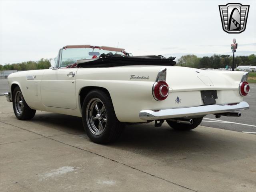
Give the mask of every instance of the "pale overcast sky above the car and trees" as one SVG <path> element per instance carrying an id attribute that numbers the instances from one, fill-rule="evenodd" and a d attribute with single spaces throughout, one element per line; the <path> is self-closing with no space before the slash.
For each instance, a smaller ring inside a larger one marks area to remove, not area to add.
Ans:
<path id="1" fill-rule="evenodd" d="M 222 30 L 218 5 L 250 5 L 246 30 Z M 2 1 L 0 64 L 57 55 L 69 44 L 117 46 L 133 55 L 256 54 L 256 1 Z"/>

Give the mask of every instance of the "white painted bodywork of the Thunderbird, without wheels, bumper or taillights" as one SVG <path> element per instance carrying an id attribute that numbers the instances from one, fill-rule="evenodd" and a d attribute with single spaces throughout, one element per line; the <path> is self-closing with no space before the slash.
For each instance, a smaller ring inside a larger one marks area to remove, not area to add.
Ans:
<path id="1" fill-rule="evenodd" d="M 163 101 L 156 101 L 152 95 L 152 86 L 158 72 L 163 68 L 167 69 L 169 96 Z M 68 77 L 69 72 L 74 72 L 74 77 Z M 10 86 L 20 86 L 30 108 L 73 116 L 82 116 L 82 88 L 104 88 L 110 94 L 119 121 L 146 122 L 139 117 L 142 110 L 203 105 L 201 90 L 217 90 L 216 104 L 242 102 L 238 88 L 243 75 L 244 72 L 143 65 L 31 70 L 10 74 L 8 82 Z M 36 78 L 27 79 L 27 76 Z M 177 97 L 180 98 L 180 102 L 176 102 Z"/>

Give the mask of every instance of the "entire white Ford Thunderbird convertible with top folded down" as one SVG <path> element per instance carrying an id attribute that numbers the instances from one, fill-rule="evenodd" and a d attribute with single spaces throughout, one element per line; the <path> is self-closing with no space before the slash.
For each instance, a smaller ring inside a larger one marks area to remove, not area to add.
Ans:
<path id="1" fill-rule="evenodd" d="M 241 116 L 250 91 L 248 73 L 174 66 L 175 58 L 131 56 L 122 48 L 72 45 L 60 49 L 50 69 L 8 76 L 16 117 L 36 110 L 82 117 L 96 143 L 116 140 L 127 123 L 166 122 L 196 128 L 207 114 Z"/>

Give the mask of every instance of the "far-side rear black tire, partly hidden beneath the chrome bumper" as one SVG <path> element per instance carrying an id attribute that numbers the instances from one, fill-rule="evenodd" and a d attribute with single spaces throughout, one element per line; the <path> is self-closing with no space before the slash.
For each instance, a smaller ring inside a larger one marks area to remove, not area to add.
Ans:
<path id="1" fill-rule="evenodd" d="M 190 125 L 190 124 L 183 124 L 183 123 L 177 123 L 177 122 L 168 121 L 168 120 L 166 120 L 166 122 L 174 130 L 188 131 L 188 130 L 192 130 L 192 129 L 198 127 L 198 125 L 202 122 L 202 119 L 203 119 L 202 117 L 200 117 L 200 118 L 193 118 L 193 124 L 192 125 Z"/>

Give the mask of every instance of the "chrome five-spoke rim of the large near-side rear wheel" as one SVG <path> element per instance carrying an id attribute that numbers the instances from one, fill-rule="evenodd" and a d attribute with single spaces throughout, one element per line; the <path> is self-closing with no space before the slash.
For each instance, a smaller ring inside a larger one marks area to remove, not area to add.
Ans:
<path id="1" fill-rule="evenodd" d="M 98 98 L 92 98 L 86 107 L 86 122 L 94 135 L 104 132 L 107 123 L 107 114 L 103 102 Z"/>

